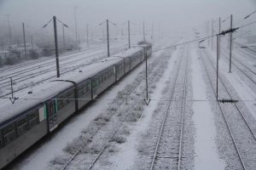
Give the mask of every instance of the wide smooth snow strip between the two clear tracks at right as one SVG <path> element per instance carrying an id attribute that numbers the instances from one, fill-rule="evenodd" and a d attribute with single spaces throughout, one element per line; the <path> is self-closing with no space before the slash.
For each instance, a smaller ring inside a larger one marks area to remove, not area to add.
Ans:
<path id="1" fill-rule="evenodd" d="M 193 99 L 207 100 L 207 87 L 202 77 L 201 61 L 195 50 L 192 50 L 191 55 Z M 224 161 L 219 158 L 217 144 L 215 143 L 216 129 L 211 105 L 208 101 L 194 101 L 193 111 L 193 119 L 196 127 L 195 169 L 224 169 Z"/>

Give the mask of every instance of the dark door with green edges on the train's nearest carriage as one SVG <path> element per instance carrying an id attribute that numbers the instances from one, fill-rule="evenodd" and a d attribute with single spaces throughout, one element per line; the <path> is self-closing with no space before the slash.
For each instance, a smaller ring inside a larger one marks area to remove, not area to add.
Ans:
<path id="1" fill-rule="evenodd" d="M 47 113 L 48 113 L 48 127 L 49 132 L 53 131 L 56 127 L 58 127 L 57 124 L 57 107 L 55 100 L 50 100 L 47 105 Z"/>

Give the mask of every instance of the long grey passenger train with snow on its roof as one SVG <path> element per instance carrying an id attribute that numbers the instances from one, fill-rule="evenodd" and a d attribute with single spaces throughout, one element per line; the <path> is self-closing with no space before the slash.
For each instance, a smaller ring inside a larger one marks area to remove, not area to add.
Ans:
<path id="1" fill-rule="evenodd" d="M 152 53 L 149 42 L 39 84 L 18 95 L 14 104 L 0 105 L 0 168 L 55 131 L 69 116 L 86 107 L 125 77 Z"/>

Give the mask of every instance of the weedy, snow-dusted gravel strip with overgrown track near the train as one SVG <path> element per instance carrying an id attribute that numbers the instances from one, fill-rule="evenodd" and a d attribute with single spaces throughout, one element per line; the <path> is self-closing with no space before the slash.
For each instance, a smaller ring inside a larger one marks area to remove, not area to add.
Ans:
<path id="1" fill-rule="evenodd" d="M 164 69 L 163 65 L 166 64 L 165 58 L 161 59 L 160 62 L 157 59 L 157 57 L 162 58 L 162 56 L 162 53 L 160 53 L 159 56 L 153 55 L 152 58 L 154 58 L 154 61 L 148 65 L 148 81 L 150 82 L 150 86 L 154 87 L 154 84 L 161 75 L 161 70 Z M 75 159 L 70 163 L 68 169 L 77 169 L 84 166 L 89 167 L 99 151 L 102 149 L 104 149 L 104 151 L 96 163 L 96 168 L 98 166 L 97 169 L 101 169 L 102 165 L 104 165 L 104 168 L 106 168 L 106 165 L 108 165 L 107 158 L 118 150 L 116 144 L 125 143 L 125 136 L 129 134 L 129 126 L 137 122 L 141 116 L 143 116 L 143 107 L 145 106 L 143 97 L 145 95 L 142 94 L 145 92 L 144 88 L 144 72 L 141 72 L 135 81 L 127 85 L 125 90 L 120 92 L 116 97 L 116 99 L 119 99 L 119 102 L 121 102 L 118 107 L 114 106 L 113 103 L 110 103 L 109 107 L 112 108 L 111 111 L 103 111 L 100 116 L 101 118 L 97 118 L 95 122 L 90 124 L 89 130 L 90 128 L 93 128 L 96 129 L 96 131 L 88 132 L 88 128 L 84 129 L 82 135 L 82 138 L 84 139 L 80 138 L 75 140 L 74 143 L 69 144 L 66 151 L 69 153 L 71 152 L 71 154 L 73 153 L 70 150 L 77 150 L 79 148 L 78 145 L 81 145 L 78 143 L 81 143 L 81 141 L 83 143 L 83 148 L 81 153 L 79 153 L 79 155 L 76 156 Z M 149 94 L 151 93 L 152 90 L 149 89 Z M 125 104 L 125 98 L 128 98 L 127 105 Z M 103 122 L 102 117 L 104 117 Z M 108 121 L 106 121 L 106 118 Z M 98 123 L 99 121 L 100 123 Z M 88 140 L 89 142 L 86 143 L 85 141 Z M 88 152 L 88 150 L 92 151 Z M 64 156 L 67 156 L 67 154 L 64 154 Z M 57 166 L 58 168 L 63 162 L 61 160 L 67 161 L 67 159 L 65 160 L 65 157 L 63 159 L 63 156 L 61 156 L 61 158 L 56 157 L 55 161 L 52 161 L 54 167 Z"/>

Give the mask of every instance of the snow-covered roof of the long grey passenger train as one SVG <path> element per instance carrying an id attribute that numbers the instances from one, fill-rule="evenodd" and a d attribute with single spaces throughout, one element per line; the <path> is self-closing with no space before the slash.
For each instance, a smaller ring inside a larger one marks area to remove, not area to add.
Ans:
<path id="1" fill-rule="evenodd" d="M 82 82 L 89 77 L 93 77 L 97 72 L 103 71 L 109 66 L 118 63 L 123 57 L 136 53 L 138 50 L 139 48 L 131 48 L 126 50 L 125 53 L 121 53 L 123 54 L 122 56 L 112 56 L 107 59 L 99 60 L 91 65 L 84 65 L 80 69 L 67 73 L 55 80 L 69 80 L 77 83 Z M 26 91 L 15 93 L 15 97 L 20 98 L 15 101 L 15 104 L 12 104 L 9 99 L 2 100 L 0 104 L 0 125 L 9 118 L 18 115 L 20 112 L 26 111 L 72 86 L 73 84 L 70 82 L 47 81 Z M 28 94 L 29 91 L 31 91 L 32 94 Z"/>

